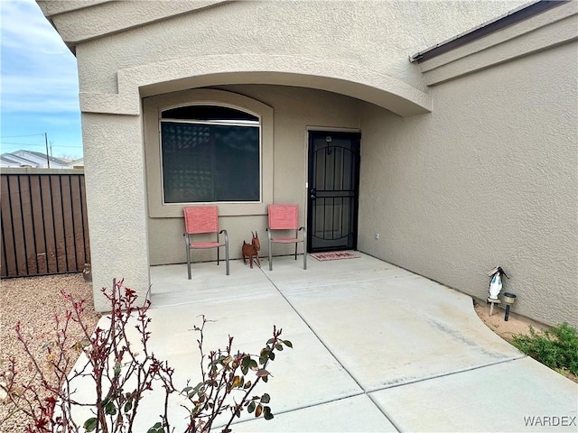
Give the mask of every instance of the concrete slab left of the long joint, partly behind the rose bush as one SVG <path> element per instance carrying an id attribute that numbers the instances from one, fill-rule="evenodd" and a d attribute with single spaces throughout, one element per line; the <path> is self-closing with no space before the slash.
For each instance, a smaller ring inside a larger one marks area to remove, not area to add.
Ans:
<path id="1" fill-rule="evenodd" d="M 268 368 L 273 377 L 255 389 L 258 395 L 271 394 L 275 411 L 291 412 L 363 392 L 278 291 L 254 289 L 248 295 L 227 299 L 213 297 L 204 302 L 193 299 L 149 311 L 150 331 L 163 336 L 161 341 L 152 342 L 152 349 L 175 367 L 174 383 L 180 384 L 178 389 L 184 388 L 188 379 L 195 384 L 200 381 L 198 333 L 192 328 L 200 326 L 200 315 L 204 315 L 211 320 L 205 328 L 206 352 L 225 347 L 230 334 L 234 336 L 233 352 L 258 354 L 271 337 L 274 325 L 283 327 L 282 337 L 299 342 L 293 349 L 277 355 Z M 307 383 L 314 386 L 303 386 Z M 245 413 L 241 419 L 251 416 Z"/>

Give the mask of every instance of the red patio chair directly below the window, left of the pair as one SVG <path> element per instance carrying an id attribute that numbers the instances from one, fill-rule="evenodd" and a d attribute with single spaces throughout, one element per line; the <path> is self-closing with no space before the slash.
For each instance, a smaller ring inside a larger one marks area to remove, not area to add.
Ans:
<path id="1" fill-rule="evenodd" d="M 183 207 L 185 233 L 184 243 L 187 250 L 187 272 L 191 280 L 191 250 L 217 248 L 217 265 L 219 265 L 219 248 L 225 247 L 225 263 L 228 275 L 228 233 L 223 229 L 219 231 L 219 208 L 216 206 L 191 206 Z M 192 235 L 201 233 L 214 233 L 217 241 L 193 242 Z M 224 235 L 225 242 L 219 241 L 219 235 Z"/>

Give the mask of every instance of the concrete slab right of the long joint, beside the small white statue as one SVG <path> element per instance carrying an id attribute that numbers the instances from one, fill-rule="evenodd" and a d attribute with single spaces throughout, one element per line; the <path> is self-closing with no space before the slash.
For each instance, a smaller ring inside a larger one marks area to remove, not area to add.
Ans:
<path id="1" fill-rule="evenodd" d="M 471 299 L 430 282 L 383 278 L 283 292 L 366 391 L 523 356 L 472 315 Z"/>

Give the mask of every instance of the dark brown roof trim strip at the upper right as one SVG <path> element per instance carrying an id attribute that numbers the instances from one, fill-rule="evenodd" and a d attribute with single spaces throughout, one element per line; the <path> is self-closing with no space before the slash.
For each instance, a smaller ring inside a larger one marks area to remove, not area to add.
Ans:
<path id="1" fill-rule="evenodd" d="M 508 27 L 520 21 L 524 21 L 527 18 L 534 16 L 536 14 L 541 14 L 548 9 L 551 9 L 558 5 L 564 5 L 571 0 L 540 0 L 532 5 L 522 7 L 517 9 L 506 16 L 498 18 L 496 21 L 483 24 L 480 27 L 472 30 L 471 32 L 462 33 L 449 41 L 445 41 L 435 45 L 433 48 L 428 48 L 427 50 L 420 51 L 409 58 L 409 61 L 421 63 L 425 60 L 433 59 L 444 52 L 455 50 L 466 43 L 475 41 L 477 39 L 483 38 L 489 33 L 498 32 L 499 30 Z"/>

